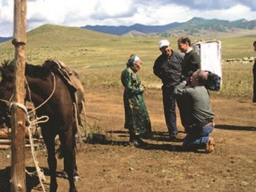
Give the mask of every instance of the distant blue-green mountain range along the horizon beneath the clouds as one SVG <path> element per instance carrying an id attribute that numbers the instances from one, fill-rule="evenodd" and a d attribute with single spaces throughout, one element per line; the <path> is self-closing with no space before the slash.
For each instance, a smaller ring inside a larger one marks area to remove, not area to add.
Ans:
<path id="1" fill-rule="evenodd" d="M 146 26 L 143 24 L 134 24 L 132 26 L 83 26 L 81 28 L 92 31 L 104 32 L 115 35 L 128 36 L 159 36 L 176 37 L 179 35 L 207 36 L 207 35 L 228 35 L 236 32 L 247 32 L 246 34 L 256 34 L 256 20 L 206 20 L 204 18 L 194 17 L 184 23 L 170 23 L 162 26 Z M 254 33 L 255 32 L 255 33 Z"/>

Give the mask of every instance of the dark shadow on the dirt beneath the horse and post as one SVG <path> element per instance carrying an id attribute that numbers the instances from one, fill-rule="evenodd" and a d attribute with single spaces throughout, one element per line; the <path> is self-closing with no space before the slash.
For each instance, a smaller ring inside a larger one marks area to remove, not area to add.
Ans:
<path id="1" fill-rule="evenodd" d="M 45 175 L 50 176 L 50 171 L 48 168 L 42 168 L 43 172 Z M 34 172 L 36 171 L 35 167 L 26 167 L 26 170 L 28 172 Z M 0 189 L 1 191 L 11 191 L 11 186 L 10 186 L 10 166 L 0 169 Z M 62 177 L 62 172 L 56 172 L 57 177 Z M 26 191 L 32 191 L 32 190 L 38 190 L 42 191 L 41 186 L 39 185 L 39 179 L 37 175 L 28 175 L 26 174 Z M 49 183 L 48 182 L 43 182 L 43 186 L 47 190 L 49 188 Z"/>

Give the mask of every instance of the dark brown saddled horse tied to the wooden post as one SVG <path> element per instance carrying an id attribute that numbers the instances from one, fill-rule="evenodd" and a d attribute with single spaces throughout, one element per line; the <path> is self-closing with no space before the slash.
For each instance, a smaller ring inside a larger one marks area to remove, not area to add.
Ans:
<path id="1" fill-rule="evenodd" d="M 8 102 L 13 96 L 14 66 L 4 64 L 0 67 L 0 124 L 10 127 L 10 106 Z M 74 175 L 77 174 L 75 158 L 75 118 L 73 116 L 73 96 L 61 76 L 45 65 L 26 64 L 26 96 L 25 102 L 31 98 L 36 107 L 37 116 L 48 116 L 48 122 L 40 124 L 43 140 L 47 147 L 48 166 L 50 170 L 50 191 L 56 191 L 55 138 L 59 135 L 60 152 L 64 157 L 64 170 L 69 180 L 69 191 L 77 191 Z M 49 98 L 49 95 L 51 97 Z M 45 100 L 48 101 L 41 105 Z M 39 108 L 38 108 L 39 107 Z"/>

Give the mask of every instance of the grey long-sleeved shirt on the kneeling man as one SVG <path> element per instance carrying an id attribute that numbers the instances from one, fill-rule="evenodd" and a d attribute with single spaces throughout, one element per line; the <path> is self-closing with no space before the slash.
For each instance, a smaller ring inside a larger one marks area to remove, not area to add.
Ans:
<path id="1" fill-rule="evenodd" d="M 180 104 L 183 126 L 205 125 L 213 121 L 214 115 L 205 86 L 186 87 L 186 83 L 181 83 L 175 87 L 174 94 Z"/>

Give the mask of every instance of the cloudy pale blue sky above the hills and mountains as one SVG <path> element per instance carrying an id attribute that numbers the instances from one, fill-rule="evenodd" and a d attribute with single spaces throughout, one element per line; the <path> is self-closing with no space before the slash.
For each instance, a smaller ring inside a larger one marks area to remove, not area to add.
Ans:
<path id="1" fill-rule="evenodd" d="M 168 24 L 193 17 L 256 20 L 255 0 L 28 0 L 28 30 L 64 26 Z M 0 0 L 0 36 L 13 34 L 13 0 Z"/>

